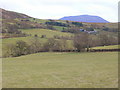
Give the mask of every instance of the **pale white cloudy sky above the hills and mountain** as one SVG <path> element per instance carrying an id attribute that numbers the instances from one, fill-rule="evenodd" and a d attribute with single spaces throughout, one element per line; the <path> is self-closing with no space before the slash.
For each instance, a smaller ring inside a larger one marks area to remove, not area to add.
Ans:
<path id="1" fill-rule="evenodd" d="M 39 19 L 96 15 L 117 22 L 118 2 L 119 0 L 0 0 L 0 8 Z"/>

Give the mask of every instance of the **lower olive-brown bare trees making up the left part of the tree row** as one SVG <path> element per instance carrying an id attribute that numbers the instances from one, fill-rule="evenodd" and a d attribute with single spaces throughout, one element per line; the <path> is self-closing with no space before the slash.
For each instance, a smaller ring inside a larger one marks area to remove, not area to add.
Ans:
<path id="1" fill-rule="evenodd" d="M 49 38 L 47 42 L 43 44 L 39 40 L 39 37 L 34 37 L 29 43 L 18 40 L 15 44 L 7 44 L 3 57 L 17 57 L 38 52 L 60 51 L 66 50 L 67 48 L 67 40 Z"/>

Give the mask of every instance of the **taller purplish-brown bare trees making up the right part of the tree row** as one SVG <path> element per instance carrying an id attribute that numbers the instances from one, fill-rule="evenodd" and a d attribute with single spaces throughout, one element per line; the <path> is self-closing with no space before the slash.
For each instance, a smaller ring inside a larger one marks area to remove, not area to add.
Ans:
<path id="1" fill-rule="evenodd" d="M 108 45 L 117 45 L 118 38 L 107 35 L 107 34 L 99 34 L 97 36 L 92 36 L 88 33 L 76 34 L 74 36 L 74 47 L 79 51 L 89 51 L 91 47 L 95 46 L 108 46 Z"/>

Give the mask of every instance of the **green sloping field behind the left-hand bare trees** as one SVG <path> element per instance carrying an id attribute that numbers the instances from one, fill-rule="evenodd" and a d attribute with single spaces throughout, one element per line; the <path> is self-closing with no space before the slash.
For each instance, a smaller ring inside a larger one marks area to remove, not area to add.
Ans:
<path id="1" fill-rule="evenodd" d="M 48 29 L 24 29 L 21 30 L 24 33 L 31 34 L 32 36 L 28 37 L 16 37 L 16 38 L 6 38 L 2 40 L 2 44 L 8 44 L 8 43 L 15 43 L 18 40 L 23 40 L 23 41 L 30 41 L 35 34 L 38 36 L 46 35 L 46 38 L 40 38 L 41 42 L 44 42 L 47 40 L 47 38 L 52 38 L 54 35 L 57 36 L 72 36 L 73 34 L 71 33 L 63 33 L 60 31 L 53 31 L 53 30 L 48 30 Z"/>

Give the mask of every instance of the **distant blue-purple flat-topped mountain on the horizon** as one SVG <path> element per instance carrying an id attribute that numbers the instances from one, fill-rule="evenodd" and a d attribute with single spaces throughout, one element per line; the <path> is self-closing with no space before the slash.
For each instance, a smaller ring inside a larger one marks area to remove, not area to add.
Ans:
<path id="1" fill-rule="evenodd" d="M 109 23 L 107 20 L 99 16 L 92 16 L 92 15 L 67 16 L 67 17 L 60 18 L 60 20 L 91 22 L 91 23 Z"/>

